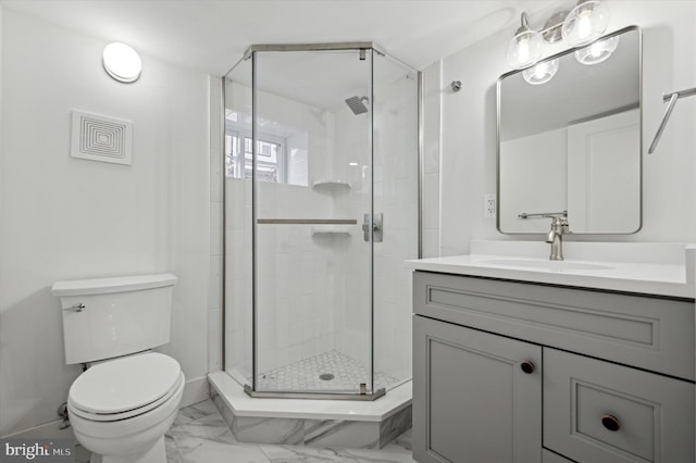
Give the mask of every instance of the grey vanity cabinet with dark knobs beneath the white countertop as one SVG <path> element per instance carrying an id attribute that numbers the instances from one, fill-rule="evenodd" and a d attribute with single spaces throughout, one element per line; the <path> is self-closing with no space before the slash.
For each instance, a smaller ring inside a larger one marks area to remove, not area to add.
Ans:
<path id="1" fill-rule="evenodd" d="M 415 272 L 413 456 L 693 462 L 694 302 Z"/>

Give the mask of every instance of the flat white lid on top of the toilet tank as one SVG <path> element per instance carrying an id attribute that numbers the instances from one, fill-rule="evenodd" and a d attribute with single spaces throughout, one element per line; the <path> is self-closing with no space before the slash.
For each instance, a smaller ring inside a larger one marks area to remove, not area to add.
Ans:
<path id="1" fill-rule="evenodd" d="M 55 281 L 51 288 L 51 292 L 53 296 L 105 295 L 109 292 L 161 288 L 163 286 L 174 286 L 175 284 L 176 277 L 171 273 L 158 273 L 152 275 Z"/>

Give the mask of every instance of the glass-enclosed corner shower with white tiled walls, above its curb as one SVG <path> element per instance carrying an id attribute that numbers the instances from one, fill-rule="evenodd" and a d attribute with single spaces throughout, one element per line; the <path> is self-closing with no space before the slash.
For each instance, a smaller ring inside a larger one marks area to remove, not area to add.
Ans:
<path id="1" fill-rule="evenodd" d="M 252 397 L 411 377 L 420 74 L 371 42 L 252 46 L 224 78 L 224 368 Z"/>

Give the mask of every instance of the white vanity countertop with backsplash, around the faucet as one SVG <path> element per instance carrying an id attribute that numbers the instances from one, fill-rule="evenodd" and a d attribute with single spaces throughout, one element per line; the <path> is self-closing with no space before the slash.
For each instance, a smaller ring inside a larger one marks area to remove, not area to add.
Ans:
<path id="1" fill-rule="evenodd" d="M 406 261 L 406 266 L 455 275 L 689 299 L 695 297 L 694 246 L 569 242 L 563 245 L 567 254 L 564 263 L 555 265 L 556 263 L 549 263 L 546 253 L 538 252 L 548 251 L 548 245 L 539 245 L 545 243 L 472 241 L 471 254 L 409 260 Z M 582 259 L 585 256 L 592 260 Z M 519 266 L 515 265 L 517 262 L 520 263 Z M 601 268 L 576 268 L 583 265 Z"/>

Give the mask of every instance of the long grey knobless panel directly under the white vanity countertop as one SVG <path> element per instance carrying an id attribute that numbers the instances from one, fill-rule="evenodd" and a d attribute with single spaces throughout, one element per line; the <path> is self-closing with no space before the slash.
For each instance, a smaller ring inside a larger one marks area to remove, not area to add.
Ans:
<path id="1" fill-rule="evenodd" d="M 694 379 L 694 302 L 475 278 L 413 276 L 419 315 Z"/>

